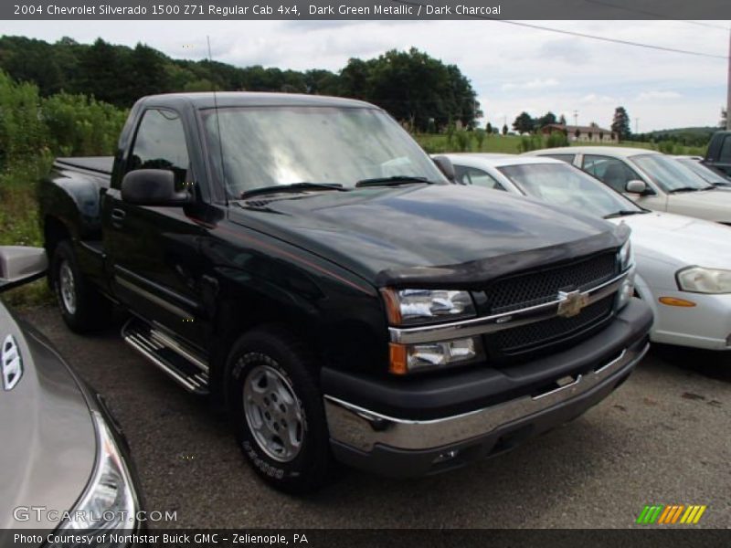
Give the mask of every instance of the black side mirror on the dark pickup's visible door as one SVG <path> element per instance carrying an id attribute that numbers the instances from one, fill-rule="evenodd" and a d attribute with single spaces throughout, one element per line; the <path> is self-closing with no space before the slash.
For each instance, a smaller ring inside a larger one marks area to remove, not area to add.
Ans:
<path id="1" fill-rule="evenodd" d="M 134 205 L 185 205 L 191 196 L 175 192 L 175 174 L 167 169 L 136 169 L 122 179 L 122 201 Z"/>

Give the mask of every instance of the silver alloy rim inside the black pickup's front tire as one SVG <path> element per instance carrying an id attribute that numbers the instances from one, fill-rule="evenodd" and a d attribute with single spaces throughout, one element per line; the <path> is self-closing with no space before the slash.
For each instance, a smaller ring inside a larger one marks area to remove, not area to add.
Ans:
<path id="1" fill-rule="evenodd" d="M 244 381 L 244 414 L 251 434 L 270 458 L 290 462 L 300 454 L 304 411 L 290 382 L 270 365 L 249 371 Z"/>

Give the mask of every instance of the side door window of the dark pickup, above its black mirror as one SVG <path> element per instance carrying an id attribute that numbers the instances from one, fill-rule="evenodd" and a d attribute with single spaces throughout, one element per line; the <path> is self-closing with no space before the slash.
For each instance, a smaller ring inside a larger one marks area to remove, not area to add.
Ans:
<path id="1" fill-rule="evenodd" d="M 175 187 L 184 187 L 189 167 L 183 122 L 174 111 L 145 111 L 134 138 L 128 171 L 169 169 L 175 174 Z"/>

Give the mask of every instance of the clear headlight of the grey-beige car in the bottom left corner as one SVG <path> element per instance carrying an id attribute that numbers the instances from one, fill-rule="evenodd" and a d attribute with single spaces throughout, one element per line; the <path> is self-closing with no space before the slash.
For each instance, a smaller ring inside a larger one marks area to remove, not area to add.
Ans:
<path id="1" fill-rule="evenodd" d="M 69 512 L 73 519 L 62 522 L 58 531 L 132 530 L 137 497 L 130 472 L 104 418 L 96 411 L 91 416 L 98 446 L 94 476 L 76 508 Z"/>

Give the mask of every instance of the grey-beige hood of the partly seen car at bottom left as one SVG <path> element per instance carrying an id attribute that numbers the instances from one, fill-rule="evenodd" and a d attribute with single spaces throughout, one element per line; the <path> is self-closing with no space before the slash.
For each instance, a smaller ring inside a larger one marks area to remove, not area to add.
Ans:
<path id="1" fill-rule="evenodd" d="M 28 521 L 16 522 L 14 509 L 73 509 L 94 468 L 94 426 L 66 364 L 39 335 L 25 325 L 21 331 L 0 305 L 0 342 L 8 335 L 16 341 L 23 373 L 12 390 L 0 388 L 0 528 L 53 529 L 58 522 L 39 522 L 32 512 Z M 1 541 L 2 533 L 5 545 Z"/>

